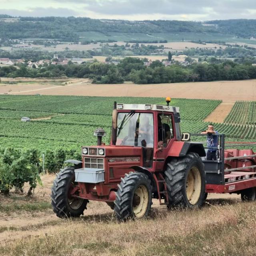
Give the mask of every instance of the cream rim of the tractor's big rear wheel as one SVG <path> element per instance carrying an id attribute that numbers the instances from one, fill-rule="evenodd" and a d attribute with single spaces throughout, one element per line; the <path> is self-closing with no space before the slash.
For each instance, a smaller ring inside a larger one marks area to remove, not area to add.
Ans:
<path id="1" fill-rule="evenodd" d="M 186 180 L 186 195 L 190 204 L 196 204 L 201 194 L 201 175 L 196 166 L 193 166 Z"/>

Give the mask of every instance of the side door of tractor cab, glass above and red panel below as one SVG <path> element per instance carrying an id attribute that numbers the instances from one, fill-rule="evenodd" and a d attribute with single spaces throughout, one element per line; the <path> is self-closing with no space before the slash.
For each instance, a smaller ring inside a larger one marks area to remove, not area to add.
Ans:
<path id="1" fill-rule="evenodd" d="M 175 140 L 173 114 L 158 114 L 157 127 L 156 170 L 163 170 L 166 156 Z"/>

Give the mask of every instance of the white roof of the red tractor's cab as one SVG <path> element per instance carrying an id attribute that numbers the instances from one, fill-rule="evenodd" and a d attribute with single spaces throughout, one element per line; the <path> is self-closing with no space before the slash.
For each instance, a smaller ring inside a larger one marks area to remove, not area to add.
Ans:
<path id="1" fill-rule="evenodd" d="M 173 112 L 172 106 L 166 105 L 156 105 L 156 104 L 116 104 L 116 109 L 118 110 L 158 110 L 158 111 L 166 111 Z M 176 107 L 176 112 L 180 112 L 180 108 Z"/>

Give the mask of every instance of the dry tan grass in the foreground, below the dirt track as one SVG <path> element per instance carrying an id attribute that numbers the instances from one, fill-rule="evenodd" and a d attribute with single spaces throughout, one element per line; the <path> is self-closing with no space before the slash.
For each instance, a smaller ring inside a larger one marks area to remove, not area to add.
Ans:
<path id="1" fill-rule="evenodd" d="M 111 215 L 62 220 L 6 245 L 2 255 L 255 255 L 255 210 L 237 203 L 155 211 L 126 223 Z"/>

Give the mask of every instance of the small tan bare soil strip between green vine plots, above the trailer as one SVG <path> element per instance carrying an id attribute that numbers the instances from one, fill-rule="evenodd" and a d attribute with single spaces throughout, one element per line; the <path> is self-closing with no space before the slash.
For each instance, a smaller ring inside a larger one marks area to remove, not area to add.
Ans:
<path id="1" fill-rule="evenodd" d="M 204 119 L 204 122 L 223 123 L 234 104 L 235 101 L 224 100 L 209 116 Z"/>

